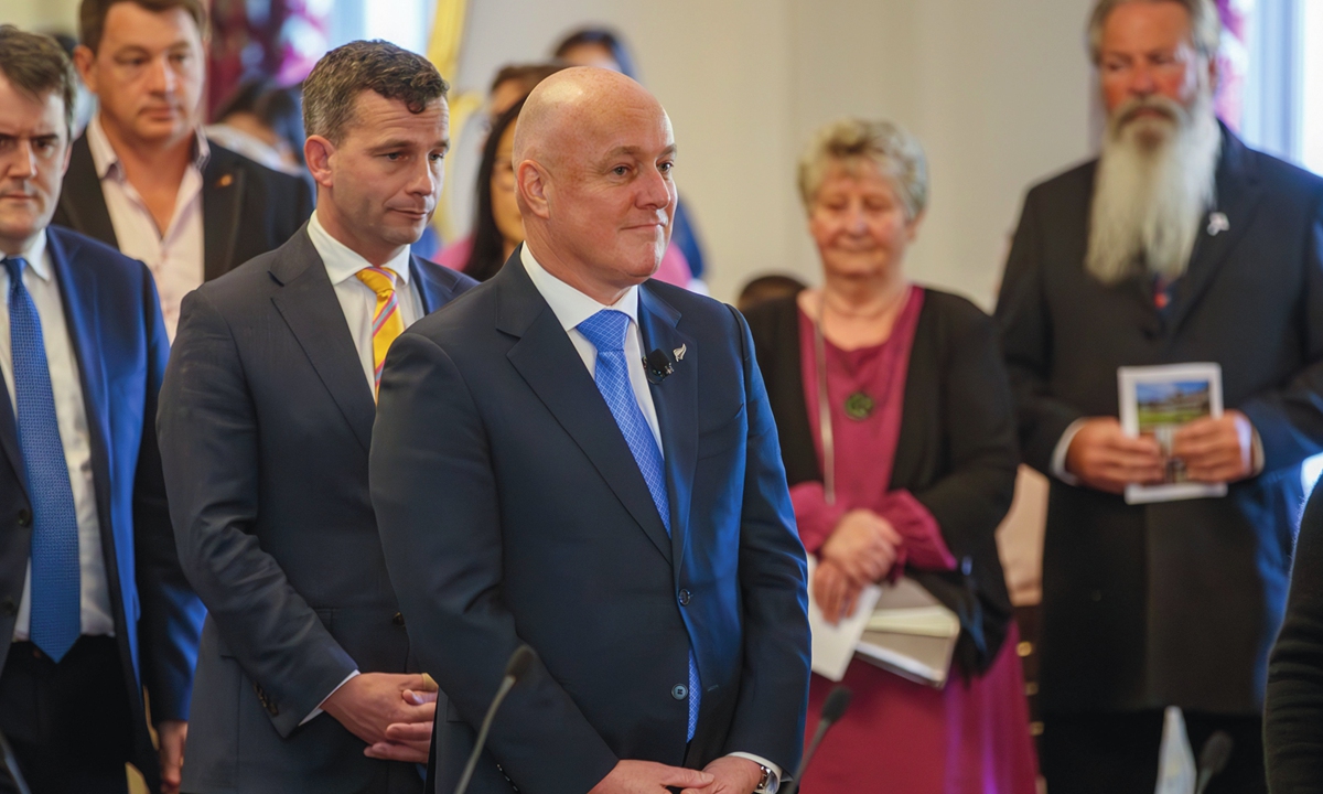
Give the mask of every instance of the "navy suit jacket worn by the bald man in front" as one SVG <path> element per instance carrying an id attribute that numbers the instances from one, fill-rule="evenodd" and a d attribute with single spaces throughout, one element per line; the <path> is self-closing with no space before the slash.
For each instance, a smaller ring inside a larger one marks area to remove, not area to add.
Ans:
<path id="1" fill-rule="evenodd" d="M 619 758 L 703 766 L 747 752 L 787 772 L 799 760 L 804 551 L 749 330 L 651 281 L 639 324 L 644 349 L 683 351 L 652 386 L 669 537 L 517 251 L 386 357 L 372 499 L 414 648 L 450 699 L 438 791 L 452 790 L 521 642 L 540 662 L 471 791 L 583 794 Z M 691 644 L 704 692 L 687 753 Z"/>

